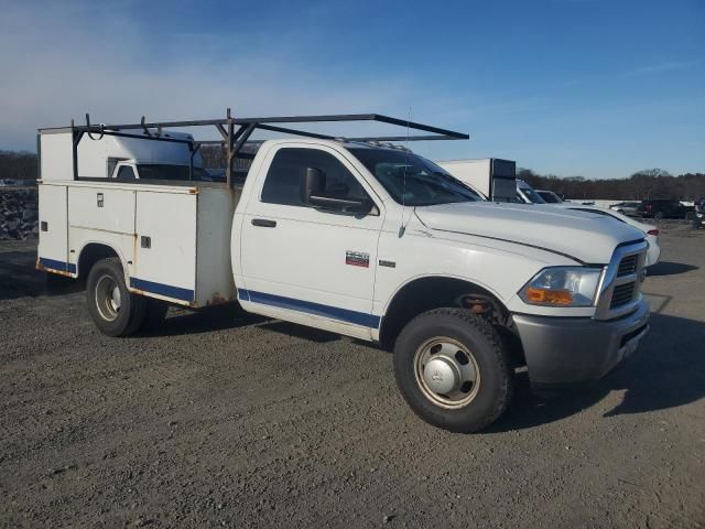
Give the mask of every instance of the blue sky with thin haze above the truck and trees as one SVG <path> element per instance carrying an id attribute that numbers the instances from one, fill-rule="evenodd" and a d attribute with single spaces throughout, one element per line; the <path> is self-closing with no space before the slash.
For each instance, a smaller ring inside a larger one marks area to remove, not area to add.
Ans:
<path id="1" fill-rule="evenodd" d="M 231 106 L 411 114 L 470 133 L 415 145 L 432 159 L 705 171 L 703 0 L 0 0 L 0 149 L 32 149 L 37 127 L 86 111 L 124 122 Z"/>

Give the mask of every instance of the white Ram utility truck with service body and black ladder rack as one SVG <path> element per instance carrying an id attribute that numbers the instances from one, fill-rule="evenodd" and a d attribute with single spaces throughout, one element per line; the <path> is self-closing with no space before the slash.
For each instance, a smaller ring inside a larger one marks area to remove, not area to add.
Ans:
<path id="1" fill-rule="evenodd" d="M 430 134 L 346 139 L 282 127 L 360 120 Z M 237 299 L 248 312 L 393 348 L 410 407 L 470 432 L 506 409 L 518 361 L 536 387 L 595 380 L 649 328 L 641 231 L 478 201 L 391 143 L 466 134 L 379 115 L 161 123 L 206 125 L 223 134 L 224 184 L 83 174 L 83 141 L 173 140 L 148 134 L 160 123 L 40 130 L 37 268 L 85 278 L 88 311 L 107 335 L 137 332 L 165 303 Z M 249 171 L 236 177 L 232 163 L 258 129 L 288 138 L 247 153 Z"/>

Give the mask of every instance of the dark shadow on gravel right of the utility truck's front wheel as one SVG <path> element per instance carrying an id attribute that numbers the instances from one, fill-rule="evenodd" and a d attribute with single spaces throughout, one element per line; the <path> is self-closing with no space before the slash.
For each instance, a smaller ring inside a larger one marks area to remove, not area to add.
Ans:
<path id="1" fill-rule="evenodd" d="M 527 374 L 517 380 L 509 409 L 486 433 L 524 430 L 560 421 L 594 407 L 610 391 L 623 390 L 603 417 L 664 410 L 705 396 L 705 323 L 651 314 L 651 332 L 623 365 L 589 388 L 541 398 L 531 392 Z"/>

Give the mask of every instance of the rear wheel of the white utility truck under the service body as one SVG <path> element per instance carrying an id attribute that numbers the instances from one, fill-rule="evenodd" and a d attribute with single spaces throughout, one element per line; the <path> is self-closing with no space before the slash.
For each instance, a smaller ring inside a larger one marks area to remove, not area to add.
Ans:
<path id="1" fill-rule="evenodd" d="M 124 284 L 120 259 L 102 259 L 94 264 L 86 281 L 88 313 L 107 336 L 129 336 L 142 326 L 147 300 L 130 293 Z"/>

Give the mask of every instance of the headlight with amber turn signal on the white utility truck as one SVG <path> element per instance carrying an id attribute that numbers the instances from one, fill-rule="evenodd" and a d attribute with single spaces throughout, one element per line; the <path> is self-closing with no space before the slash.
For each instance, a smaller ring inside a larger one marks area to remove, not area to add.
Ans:
<path id="1" fill-rule="evenodd" d="M 545 268 L 524 284 L 519 296 L 530 305 L 592 306 L 601 274 L 601 268 Z"/>

